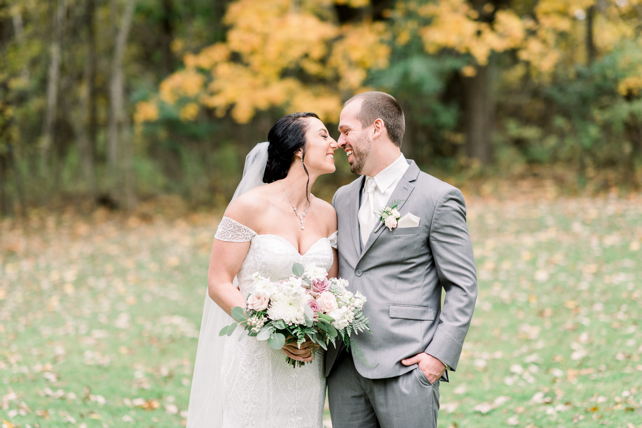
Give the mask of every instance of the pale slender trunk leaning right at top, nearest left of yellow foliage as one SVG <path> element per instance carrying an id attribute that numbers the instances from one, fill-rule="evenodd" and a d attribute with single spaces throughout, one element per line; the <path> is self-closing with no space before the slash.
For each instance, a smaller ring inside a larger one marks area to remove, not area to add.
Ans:
<path id="1" fill-rule="evenodd" d="M 134 6 L 135 0 L 127 0 L 125 4 L 125 10 L 123 16 L 121 17 L 121 24 L 117 31 L 116 35 L 116 45 L 114 48 L 114 58 L 112 60 L 112 70 L 111 70 L 111 81 L 109 85 L 109 94 L 110 94 L 110 118 L 108 125 L 108 163 L 112 169 L 112 172 L 116 174 L 114 177 L 123 176 L 125 179 L 125 190 L 128 186 L 133 186 L 132 183 L 128 183 L 133 179 L 133 174 L 131 171 L 122 170 L 122 169 L 131 169 L 131 156 L 132 149 L 131 138 L 128 136 L 130 130 L 128 129 L 128 121 L 125 117 L 125 79 L 123 76 L 123 56 L 125 55 L 125 47 L 127 38 L 129 36 L 129 30 L 132 25 L 132 19 L 134 18 Z M 126 136 L 126 138 L 123 138 Z M 123 144 L 123 162 L 119 162 L 119 147 L 118 143 L 121 140 Z M 121 169 L 121 167 L 123 167 Z M 123 172 L 124 174 L 119 174 Z M 132 187 L 133 188 L 133 187 Z M 125 205 L 128 208 L 132 208 L 134 199 L 131 195 L 125 195 Z"/>

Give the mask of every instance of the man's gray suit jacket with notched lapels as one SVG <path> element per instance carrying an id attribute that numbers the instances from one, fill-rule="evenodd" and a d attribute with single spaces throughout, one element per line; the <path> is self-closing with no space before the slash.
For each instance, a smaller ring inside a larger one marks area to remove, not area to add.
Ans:
<path id="1" fill-rule="evenodd" d="M 364 176 L 339 188 L 332 202 L 339 229 L 339 276 L 350 281 L 349 290 L 368 299 L 363 312 L 372 334 L 352 334 L 351 340 L 363 356 L 353 348 L 354 365 L 369 379 L 413 370 L 417 365 L 404 366 L 401 360 L 420 352 L 455 371 L 477 297 L 462 192 L 421 172 L 414 161 L 408 163 L 390 201 L 404 199 L 397 210 L 401 217 L 412 213 L 421 218 L 419 227 L 390 231 L 382 226 L 377 232 L 373 227 L 362 247 L 357 215 Z M 329 347 L 325 375 L 340 350 Z"/>

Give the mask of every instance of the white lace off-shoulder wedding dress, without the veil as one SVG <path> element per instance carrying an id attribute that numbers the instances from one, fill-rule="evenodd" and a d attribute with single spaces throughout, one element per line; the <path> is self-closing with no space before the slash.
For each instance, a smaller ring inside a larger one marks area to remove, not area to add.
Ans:
<path id="1" fill-rule="evenodd" d="M 252 229 L 223 217 L 215 238 L 248 242 L 250 249 L 237 279 L 243 295 L 254 292 L 252 276 L 259 272 L 272 281 L 292 276 L 292 265 L 312 263 L 329 269 L 336 232 L 321 238 L 306 254 L 277 235 L 258 235 Z M 223 354 L 223 428 L 321 428 L 325 403 L 324 351 L 311 363 L 293 368 L 282 350 L 267 341 L 245 337 L 236 329 L 225 342 Z"/>

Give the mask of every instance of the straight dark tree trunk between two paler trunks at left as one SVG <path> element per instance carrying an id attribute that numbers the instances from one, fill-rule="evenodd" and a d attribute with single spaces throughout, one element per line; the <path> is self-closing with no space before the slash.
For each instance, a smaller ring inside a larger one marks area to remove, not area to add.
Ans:
<path id="1" fill-rule="evenodd" d="M 94 51 L 94 0 L 85 4 L 85 22 L 87 22 L 87 59 L 83 70 L 83 86 L 80 95 L 80 117 L 74 120 L 78 140 L 78 154 L 82 164 L 87 192 L 96 196 L 96 173 L 94 172 L 94 139 L 92 121 L 95 121 L 94 76 L 96 73 L 96 55 Z"/>

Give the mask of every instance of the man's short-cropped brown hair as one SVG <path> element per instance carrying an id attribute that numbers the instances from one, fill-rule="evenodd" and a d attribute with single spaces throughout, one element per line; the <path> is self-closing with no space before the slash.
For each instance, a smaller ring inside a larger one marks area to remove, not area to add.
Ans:
<path id="1" fill-rule="evenodd" d="M 390 138 L 390 141 L 392 141 L 394 145 L 401 147 L 403 133 L 406 130 L 406 121 L 403 110 L 401 110 L 401 106 L 397 103 L 397 100 L 385 92 L 370 91 L 354 95 L 354 97 L 346 101 L 343 106 L 358 99 L 363 100 L 358 116 L 361 121 L 361 126 L 366 128 L 377 119 L 383 120 L 383 124 L 388 131 L 388 138 Z"/>

